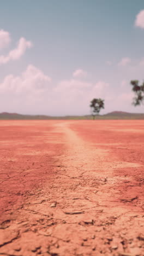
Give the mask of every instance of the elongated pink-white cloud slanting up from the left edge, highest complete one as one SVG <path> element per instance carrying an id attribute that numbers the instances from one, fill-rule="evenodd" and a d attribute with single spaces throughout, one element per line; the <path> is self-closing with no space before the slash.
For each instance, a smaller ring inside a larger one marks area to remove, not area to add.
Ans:
<path id="1" fill-rule="evenodd" d="M 32 43 L 21 37 L 15 49 L 11 50 L 6 56 L 0 56 L 0 64 L 5 64 L 11 60 L 19 60 L 25 54 L 26 49 L 31 47 Z"/>

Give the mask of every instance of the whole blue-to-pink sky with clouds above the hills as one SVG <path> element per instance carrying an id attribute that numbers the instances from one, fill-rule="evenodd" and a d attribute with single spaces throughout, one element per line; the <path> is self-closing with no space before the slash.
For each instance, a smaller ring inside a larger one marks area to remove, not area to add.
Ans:
<path id="1" fill-rule="evenodd" d="M 131 105 L 144 79 L 143 0 L 5 0 L 0 9 L 0 112 L 89 114 Z"/>

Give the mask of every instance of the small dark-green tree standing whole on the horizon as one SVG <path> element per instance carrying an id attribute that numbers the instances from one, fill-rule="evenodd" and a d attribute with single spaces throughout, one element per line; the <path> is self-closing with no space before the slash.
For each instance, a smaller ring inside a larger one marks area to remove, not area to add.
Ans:
<path id="1" fill-rule="evenodd" d="M 101 98 L 93 98 L 90 107 L 93 119 L 95 119 L 95 115 L 99 114 L 101 108 L 104 108 L 104 100 L 101 100 Z"/>

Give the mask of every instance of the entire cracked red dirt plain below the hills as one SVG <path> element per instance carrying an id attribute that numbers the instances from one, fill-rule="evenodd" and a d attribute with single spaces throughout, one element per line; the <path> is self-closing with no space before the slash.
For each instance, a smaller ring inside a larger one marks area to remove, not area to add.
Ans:
<path id="1" fill-rule="evenodd" d="M 144 121 L 1 121 L 0 136 L 0 255 L 144 255 Z"/>

